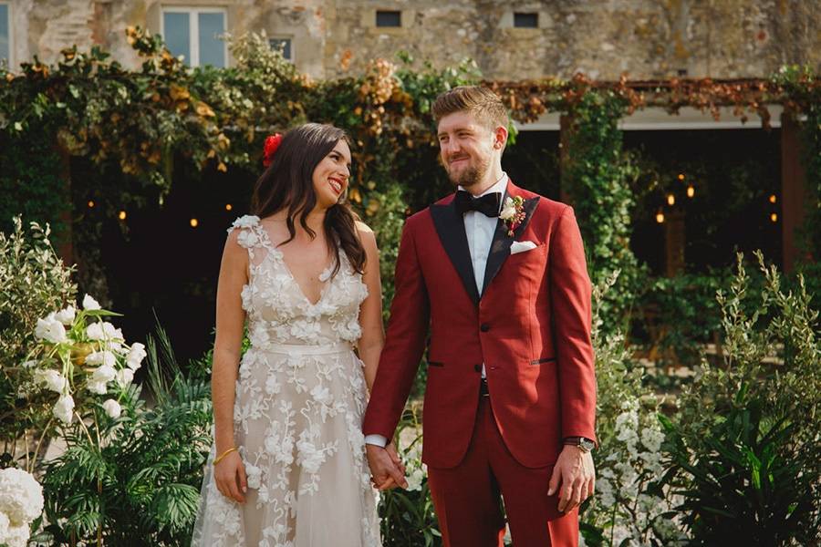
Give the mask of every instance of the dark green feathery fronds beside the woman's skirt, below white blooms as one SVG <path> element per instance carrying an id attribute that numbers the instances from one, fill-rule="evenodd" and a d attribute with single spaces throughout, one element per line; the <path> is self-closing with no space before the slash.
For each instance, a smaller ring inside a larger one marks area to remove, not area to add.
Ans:
<path id="1" fill-rule="evenodd" d="M 47 462 L 42 480 L 49 525 L 40 541 L 190 542 L 211 446 L 211 392 L 201 374 L 182 375 L 161 328 L 158 336 L 161 355 L 148 341 L 153 406 L 131 387 L 120 418 L 97 408 L 97 430 L 78 423 L 64 430 L 67 449 Z"/>

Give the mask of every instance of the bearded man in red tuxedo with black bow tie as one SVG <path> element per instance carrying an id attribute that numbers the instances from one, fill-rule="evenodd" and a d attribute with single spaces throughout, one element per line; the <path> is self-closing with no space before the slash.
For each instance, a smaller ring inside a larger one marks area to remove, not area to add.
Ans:
<path id="1" fill-rule="evenodd" d="M 502 170 L 508 118 L 490 89 L 433 105 L 457 191 L 405 223 L 388 335 L 365 414 L 381 489 L 406 486 L 384 449 L 430 327 L 422 460 L 450 547 L 576 546 L 593 493 L 590 281 L 573 209 Z M 501 213 L 501 214 L 500 214 Z"/>

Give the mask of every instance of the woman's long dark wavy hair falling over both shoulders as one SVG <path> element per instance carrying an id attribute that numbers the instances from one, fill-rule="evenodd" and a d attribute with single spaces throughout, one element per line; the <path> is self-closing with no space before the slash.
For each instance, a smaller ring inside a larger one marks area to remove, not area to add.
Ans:
<path id="1" fill-rule="evenodd" d="M 254 185 L 251 212 L 265 218 L 287 210 L 286 224 L 290 237 L 296 237 L 296 221 L 311 238 L 317 233 L 308 228 L 307 216 L 317 205 L 313 175 L 322 161 L 339 140 L 349 143 L 348 135 L 332 125 L 307 123 L 286 132 L 274 160 Z M 362 274 L 365 269 L 365 248 L 359 241 L 356 222 L 359 217 L 351 211 L 347 201 L 339 201 L 327 210 L 324 230 L 328 250 L 336 257 L 332 275 L 339 271 L 339 249 L 345 251 L 354 271 Z"/>

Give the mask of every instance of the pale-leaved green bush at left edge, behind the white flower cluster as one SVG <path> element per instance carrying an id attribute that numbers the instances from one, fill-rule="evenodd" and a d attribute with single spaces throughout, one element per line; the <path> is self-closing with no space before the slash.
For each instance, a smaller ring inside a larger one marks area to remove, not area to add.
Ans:
<path id="1" fill-rule="evenodd" d="M 26 429 L 43 428 L 50 407 L 39 392 L 22 388 L 30 373 L 22 364 L 36 346 L 37 319 L 73 303 L 77 286 L 50 242 L 51 229 L 13 220 L 0 232 L 0 439 L 13 443 Z"/>

